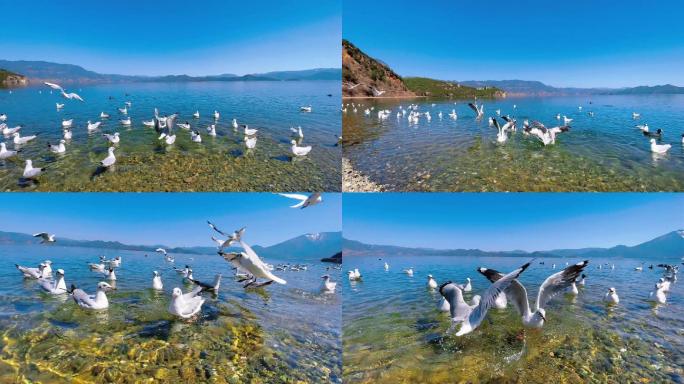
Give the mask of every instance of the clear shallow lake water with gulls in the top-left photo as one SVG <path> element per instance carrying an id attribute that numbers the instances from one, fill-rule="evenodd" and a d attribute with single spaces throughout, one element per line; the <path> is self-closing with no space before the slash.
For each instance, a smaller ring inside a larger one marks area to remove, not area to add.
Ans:
<path id="1" fill-rule="evenodd" d="M 22 135 L 38 138 L 23 146 L 20 156 L 0 162 L 4 190 L 53 191 L 339 191 L 341 149 L 340 85 L 337 81 L 131 83 L 83 86 L 74 89 L 85 103 L 65 100 L 48 87 L 0 91 L 0 113 L 10 127 L 23 125 Z M 40 93 L 39 93 L 40 91 Z M 128 94 L 128 96 L 126 96 Z M 329 97 L 328 95 L 332 96 Z M 113 99 L 109 99 L 109 97 Z M 130 128 L 121 126 L 118 112 L 130 101 Z M 55 103 L 64 103 L 58 111 Z M 312 105 L 312 113 L 299 107 Z M 157 140 L 151 120 L 154 108 L 161 114 L 178 112 L 178 122 L 198 129 L 202 143 L 177 128 L 176 143 L 167 147 Z M 199 110 L 200 119 L 192 114 Z M 214 110 L 221 113 L 217 137 L 207 135 Z M 101 120 L 100 112 L 111 115 Z M 62 119 L 74 119 L 73 139 L 63 155 L 48 151 L 47 142 L 62 138 Z M 248 151 L 244 135 L 234 132 L 231 121 L 259 130 L 257 147 Z M 87 121 L 103 121 L 88 134 Z M 290 129 L 301 126 L 302 145 L 313 150 L 305 158 L 291 158 Z M 116 169 L 97 174 L 109 143 L 102 133 L 121 133 Z M 14 148 L 11 138 L 8 147 Z M 20 182 L 24 160 L 49 171 L 39 183 Z"/>

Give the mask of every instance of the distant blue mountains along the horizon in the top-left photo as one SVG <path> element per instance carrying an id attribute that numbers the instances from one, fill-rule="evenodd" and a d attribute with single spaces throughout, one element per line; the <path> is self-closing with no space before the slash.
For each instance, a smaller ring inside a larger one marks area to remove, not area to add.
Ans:
<path id="1" fill-rule="evenodd" d="M 222 74 L 212 76 L 166 75 L 166 76 L 128 76 L 101 74 L 89 71 L 78 65 L 58 64 L 47 61 L 9 61 L 0 60 L 0 68 L 24 74 L 30 82 L 53 81 L 63 84 L 101 84 L 120 82 L 198 82 L 198 81 L 300 81 L 300 80 L 339 80 L 339 68 L 317 68 L 302 71 L 269 72 L 238 76 Z"/>

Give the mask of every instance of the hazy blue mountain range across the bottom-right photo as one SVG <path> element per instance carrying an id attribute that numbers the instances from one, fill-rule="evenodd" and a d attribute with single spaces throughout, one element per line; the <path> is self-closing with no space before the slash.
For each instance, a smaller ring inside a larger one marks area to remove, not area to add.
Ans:
<path id="1" fill-rule="evenodd" d="M 684 257 L 684 230 L 677 230 L 634 246 L 617 245 L 610 248 L 555 249 L 549 251 L 483 251 L 479 249 L 431 249 L 410 248 L 393 245 L 370 245 L 344 239 L 344 257 L 349 256 L 475 256 L 475 257 L 625 257 L 667 258 Z"/>

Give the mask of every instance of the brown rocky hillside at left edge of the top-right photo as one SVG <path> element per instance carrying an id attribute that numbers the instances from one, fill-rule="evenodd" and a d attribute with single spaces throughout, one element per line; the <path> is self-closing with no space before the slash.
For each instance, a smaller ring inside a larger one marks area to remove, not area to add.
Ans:
<path id="1" fill-rule="evenodd" d="M 389 66 L 342 40 L 342 96 L 373 97 L 373 88 L 382 97 L 416 96 Z"/>

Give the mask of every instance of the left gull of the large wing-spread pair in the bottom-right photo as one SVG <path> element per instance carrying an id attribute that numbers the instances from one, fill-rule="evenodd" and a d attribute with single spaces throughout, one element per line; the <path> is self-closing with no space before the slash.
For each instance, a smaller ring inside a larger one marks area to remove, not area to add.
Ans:
<path id="1" fill-rule="evenodd" d="M 502 275 L 487 288 L 482 294 L 479 303 L 474 308 L 470 306 L 468 306 L 468 308 L 463 307 L 463 303 L 458 300 L 459 296 L 461 297 L 461 300 L 463 297 L 462 295 L 459 295 L 460 289 L 455 284 L 451 282 L 442 284 L 442 286 L 439 287 L 439 293 L 449 301 L 452 318 L 450 330 L 458 322 L 461 322 L 461 329 L 458 330 L 456 336 L 462 336 L 475 330 L 482 323 L 485 316 L 487 316 L 487 311 L 494 304 L 496 297 L 511 286 L 513 281 L 515 281 L 529 266 L 530 263 L 527 263 L 507 275 Z M 470 311 L 468 311 L 468 309 Z M 461 313 L 460 311 L 462 310 L 465 310 L 466 313 Z"/>

